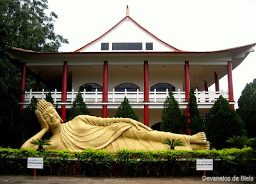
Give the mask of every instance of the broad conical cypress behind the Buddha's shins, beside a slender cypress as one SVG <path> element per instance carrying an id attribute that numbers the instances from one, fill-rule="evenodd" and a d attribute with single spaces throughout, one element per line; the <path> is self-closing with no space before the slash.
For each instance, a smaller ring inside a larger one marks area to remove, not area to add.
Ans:
<path id="1" fill-rule="evenodd" d="M 164 102 L 164 109 L 162 111 L 161 119 L 161 131 L 173 132 L 177 134 L 187 134 L 186 117 L 182 115 L 179 104 L 173 97 L 172 90 L 170 90 L 169 96 Z"/>

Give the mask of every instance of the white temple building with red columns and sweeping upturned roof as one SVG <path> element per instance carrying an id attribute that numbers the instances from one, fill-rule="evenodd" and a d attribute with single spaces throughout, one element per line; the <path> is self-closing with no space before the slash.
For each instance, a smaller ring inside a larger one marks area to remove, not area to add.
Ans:
<path id="1" fill-rule="evenodd" d="M 222 95 L 234 109 L 232 70 L 254 51 L 256 43 L 211 52 L 179 50 L 141 27 L 129 15 L 91 43 L 74 52 L 45 53 L 12 48 L 10 57 L 21 62 L 22 90 L 26 73 L 38 81 L 51 83 L 54 103 L 65 121 L 80 90 L 92 115 L 113 117 L 124 100 L 138 114 L 140 122 L 152 125 L 161 122 L 163 104 L 168 90 L 178 101 L 180 110 L 188 111 L 189 90 L 195 90 L 202 117 Z M 227 74 L 228 91 L 220 90 L 219 80 Z M 208 87 L 215 83 L 215 90 Z M 45 99 L 45 90 L 26 91 L 20 109 L 31 97 Z"/>

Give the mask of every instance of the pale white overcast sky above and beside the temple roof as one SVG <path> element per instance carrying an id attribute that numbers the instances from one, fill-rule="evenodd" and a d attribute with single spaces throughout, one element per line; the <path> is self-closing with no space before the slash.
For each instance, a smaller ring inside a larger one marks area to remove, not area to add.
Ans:
<path id="1" fill-rule="evenodd" d="M 99 38 L 126 15 L 157 38 L 188 51 L 212 51 L 256 43 L 256 0 L 48 0 L 58 15 L 55 32 L 68 39 L 60 51 L 74 51 Z M 128 33 L 127 33 L 128 34 Z M 256 52 L 233 70 L 237 101 L 256 78 Z M 214 87 L 211 87 L 214 90 Z M 220 88 L 228 90 L 227 77 Z"/>

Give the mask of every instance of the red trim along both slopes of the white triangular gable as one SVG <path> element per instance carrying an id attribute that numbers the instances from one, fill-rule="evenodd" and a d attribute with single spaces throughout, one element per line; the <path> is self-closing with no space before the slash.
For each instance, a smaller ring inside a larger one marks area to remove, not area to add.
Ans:
<path id="1" fill-rule="evenodd" d="M 149 31 L 147 31 L 147 29 L 143 28 L 140 24 L 138 24 L 135 20 L 133 20 L 131 17 L 126 16 L 125 18 L 123 18 L 120 22 L 118 22 L 118 24 L 116 24 L 114 27 L 112 27 L 111 29 L 109 29 L 109 31 L 105 32 L 104 34 L 102 34 L 102 36 L 100 36 L 99 38 L 93 40 L 91 43 L 88 43 L 87 45 L 84 45 L 83 47 L 77 49 L 74 52 L 79 52 L 81 50 L 83 50 L 83 48 L 86 48 L 87 46 L 91 45 L 92 43 L 94 43 L 95 41 L 98 41 L 100 38 L 104 37 L 106 34 L 108 34 L 109 32 L 111 32 L 113 29 L 115 29 L 115 27 L 117 27 L 119 24 L 121 24 L 126 18 L 129 18 L 130 20 L 132 20 L 132 22 L 136 25 L 138 25 L 138 27 L 140 27 L 140 29 L 142 29 L 143 31 L 145 31 L 147 34 L 149 34 L 150 36 L 152 36 L 153 38 L 157 39 L 158 41 L 160 41 L 161 43 L 163 43 L 164 45 L 174 49 L 175 51 L 180 51 L 179 49 L 173 47 L 172 45 L 169 45 L 168 43 L 165 43 L 164 41 L 162 41 L 161 39 L 157 38 L 156 36 L 154 36 L 154 34 L 150 33 Z"/>

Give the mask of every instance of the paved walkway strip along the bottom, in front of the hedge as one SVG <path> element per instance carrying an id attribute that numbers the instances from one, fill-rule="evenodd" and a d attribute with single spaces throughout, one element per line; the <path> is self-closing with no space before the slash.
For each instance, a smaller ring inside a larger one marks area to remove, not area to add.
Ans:
<path id="1" fill-rule="evenodd" d="M 256 178 L 254 179 L 256 180 Z M 175 183 L 175 184 L 193 184 L 193 183 L 256 183 L 255 181 L 202 181 L 202 177 L 195 178 L 100 178 L 100 177 L 75 177 L 75 176 L 0 176 L 0 183 L 36 183 L 36 184 L 102 184 L 102 183 L 141 183 L 141 184 L 160 184 L 160 183 Z"/>

